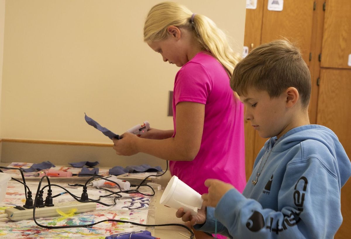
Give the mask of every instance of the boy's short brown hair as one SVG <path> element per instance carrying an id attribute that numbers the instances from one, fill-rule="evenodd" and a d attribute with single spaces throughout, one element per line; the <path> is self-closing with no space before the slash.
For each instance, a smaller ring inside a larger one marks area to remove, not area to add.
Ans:
<path id="1" fill-rule="evenodd" d="M 276 40 L 254 48 L 234 68 L 231 88 L 245 95 L 249 87 L 265 90 L 278 97 L 289 87 L 295 87 L 302 106 L 307 108 L 311 95 L 311 74 L 300 50 L 287 40 Z"/>

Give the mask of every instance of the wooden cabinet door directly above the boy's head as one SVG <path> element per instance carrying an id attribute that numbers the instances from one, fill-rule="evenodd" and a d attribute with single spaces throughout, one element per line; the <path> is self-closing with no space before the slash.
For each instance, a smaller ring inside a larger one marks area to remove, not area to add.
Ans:
<path id="1" fill-rule="evenodd" d="M 280 12 L 268 10 L 268 3 L 272 1 L 264 1 L 262 43 L 282 37 L 296 41 L 309 65 L 314 0 L 286 0 Z"/>

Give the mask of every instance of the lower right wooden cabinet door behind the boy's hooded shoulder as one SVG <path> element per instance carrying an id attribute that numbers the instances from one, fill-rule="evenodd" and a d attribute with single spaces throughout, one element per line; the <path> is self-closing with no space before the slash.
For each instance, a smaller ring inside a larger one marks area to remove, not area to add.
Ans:
<path id="1" fill-rule="evenodd" d="M 351 70 L 322 69 L 318 97 L 317 124 L 335 132 L 349 158 L 351 157 Z M 350 238 L 351 230 L 351 180 L 341 192 L 343 224 L 335 238 Z"/>

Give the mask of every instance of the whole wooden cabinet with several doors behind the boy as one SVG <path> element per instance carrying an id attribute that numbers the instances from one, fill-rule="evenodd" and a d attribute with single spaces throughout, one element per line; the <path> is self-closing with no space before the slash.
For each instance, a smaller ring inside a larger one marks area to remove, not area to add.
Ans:
<path id="1" fill-rule="evenodd" d="M 351 1 L 285 0 L 283 11 L 269 11 L 271 0 L 257 0 L 246 10 L 244 45 L 249 50 L 282 37 L 297 42 L 312 78 L 309 116 L 312 124 L 335 132 L 351 158 Z M 349 59 L 350 57 L 350 59 Z M 266 139 L 245 127 L 246 176 Z M 351 179 L 342 189 L 343 224 L 336 239 L 349 238 Z"/>

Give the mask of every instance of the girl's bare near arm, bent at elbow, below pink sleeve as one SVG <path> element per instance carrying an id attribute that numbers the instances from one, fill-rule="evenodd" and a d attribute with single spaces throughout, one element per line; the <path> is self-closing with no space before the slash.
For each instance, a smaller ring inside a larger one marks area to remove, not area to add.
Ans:
<path id="1" fill-rule="evenodd" d="M 122 139 L 114 139 L 113 148 L 118 155 L 147 153 L 172 161 L 192 161 L 200 150 L 204 128 L 205 105 L 194 102 L 180 102 L 176 105 L 176 135 L 155 140 L 139 138 L 125 133 Z"/>

